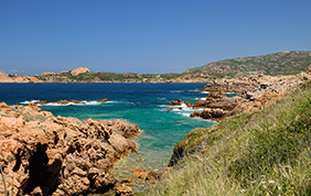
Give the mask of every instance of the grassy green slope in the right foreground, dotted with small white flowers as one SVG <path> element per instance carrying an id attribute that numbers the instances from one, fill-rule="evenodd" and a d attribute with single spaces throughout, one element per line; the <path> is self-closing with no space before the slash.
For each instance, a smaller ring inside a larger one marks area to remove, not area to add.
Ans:
<path id="1" fill-rule="evenodd" d="M 310 117 L 309 84 L 262 111 L 195 129 L 174 149 L 187 152 L 175 170 L 139 195 L 311 195 Z"/>

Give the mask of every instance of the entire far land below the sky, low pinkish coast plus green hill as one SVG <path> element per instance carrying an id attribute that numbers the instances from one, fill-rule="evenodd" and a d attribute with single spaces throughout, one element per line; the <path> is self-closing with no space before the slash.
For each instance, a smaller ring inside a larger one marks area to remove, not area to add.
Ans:
<path id="1" fill-rule="evenodd" d="M 182 74 L 117 74 L 78 67 L 33 76 L 0 73 L 0 83 L 210 83 L 224 77 L 298 74 L 305 70 L 309 65 L 311 51 L 292 51 L 207 63 L 201 67 L 189 68 Z"/>

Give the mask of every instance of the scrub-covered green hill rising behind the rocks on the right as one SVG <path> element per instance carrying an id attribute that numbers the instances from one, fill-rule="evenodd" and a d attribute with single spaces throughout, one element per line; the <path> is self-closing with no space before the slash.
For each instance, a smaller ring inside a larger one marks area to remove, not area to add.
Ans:
<path id="1" fill-rule="evenodd" d="M 289 75 L 305 70 L 310 64 L 310 51 L 291 51 L 212 62 L 201 67 L 189 68 L 184 74 L 201 73 L 215 77 L 235 77 L 250 74 Z"/>

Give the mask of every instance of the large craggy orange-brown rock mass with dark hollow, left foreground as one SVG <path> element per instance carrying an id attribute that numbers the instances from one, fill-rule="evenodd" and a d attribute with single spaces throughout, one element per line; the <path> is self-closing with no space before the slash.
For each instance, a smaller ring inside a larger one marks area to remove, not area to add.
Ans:
<path id="1" fill-rule="evenodd" d="M 0 104 L 0 164 L 9 195 L 84 195 L 115 186 L 109 171 L 137 152 L 136 124 L 54 117 L 35 104 Z M 0 195 L 4 195 L 0 181 Z"/>

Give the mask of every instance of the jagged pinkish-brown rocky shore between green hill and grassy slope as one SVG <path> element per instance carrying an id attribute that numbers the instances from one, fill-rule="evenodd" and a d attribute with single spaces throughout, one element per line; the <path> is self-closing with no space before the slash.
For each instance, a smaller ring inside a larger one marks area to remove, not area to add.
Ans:
<path id="1" fill-rule="evenodd" d="M 244 78 L 217 79 L 207 84 L 203 89 L 195 89 L 208 92 L 204 100 L 199 100 L 193 105 L 178 100 L 168 104 L 168 106 L 185 104 L 192 109 L 204 109 L 203 111 L 194 111 L 190 117 L 219 121 L 243 111 L 260 110 L 265 106 L 282 99 L 288 91 L 311 80 L 310 70 L 311 67 L 307 72 L 290 76 L 272 77 L 260 74 Z M 236 92 L 237 96 L 227 97 L 225 92 Z"/>

